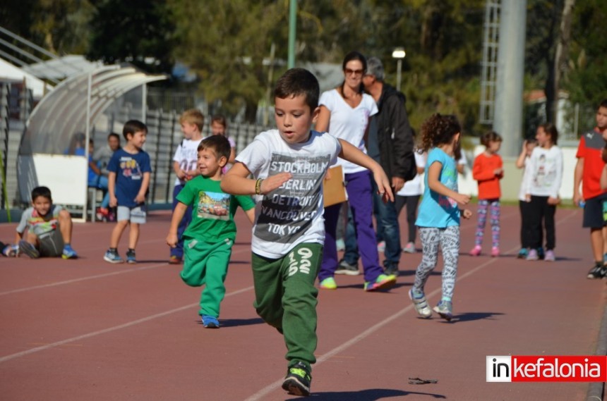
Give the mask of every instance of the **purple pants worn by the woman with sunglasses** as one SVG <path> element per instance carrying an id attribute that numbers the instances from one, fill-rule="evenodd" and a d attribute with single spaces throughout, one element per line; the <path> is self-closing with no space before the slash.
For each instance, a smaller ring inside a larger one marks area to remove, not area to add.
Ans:
<path id="1" fill-rule="evenodd" d="M 373 197 L 371 197 L 371 173 L 346 174 L 346 190 L 348 202 L 356 228 L 356 243 L 363 261 L 365 281 L 375 281 L 383 269 L 379 265 L 377 240 L 373 228 Z M 337 269 L 337 247 L 335 246 L 335 233 L 337 232 L 337 218 L 342 204 L 334 204 L 325 208 L 325 249 L 323 264 L 320 266 L 318 279 L 320 281 L 335 275 Z"/>

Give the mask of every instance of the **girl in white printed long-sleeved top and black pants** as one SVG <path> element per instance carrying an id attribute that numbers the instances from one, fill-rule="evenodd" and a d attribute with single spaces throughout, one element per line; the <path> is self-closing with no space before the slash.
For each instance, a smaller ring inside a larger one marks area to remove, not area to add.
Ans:
<path id="1" fill-rule="evenodd" d="M 563 180 L 563 152 L 556 146 L 558 131 L 551 123 L 542 124 L 536 132 L 538 147 L 529 158 L 529 175 L 524 181 L 525 199 L 531 208 L 531 249 L 527 260 L 537 260 L 536 251 L 541 247 L 542 221 L 546 229 L 545 261 L 555 261 L 556 205 L 560 202 L 558 191 Z"/>

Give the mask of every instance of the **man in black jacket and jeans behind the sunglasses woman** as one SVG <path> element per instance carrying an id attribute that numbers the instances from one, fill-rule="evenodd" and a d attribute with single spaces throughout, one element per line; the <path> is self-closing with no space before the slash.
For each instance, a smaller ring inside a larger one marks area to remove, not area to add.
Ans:
<path id="1" fill-rule="evenodd" d="M 413 154 L 413 132 L 409 125 L 405 97 L 384 80 L 384 69 L 379 58 L 367 60 L 367 70 L 363 76 L 366 92 L 371 94 L 378 105 L 378 113 L 371 117 L 367 152 L 383 167 L 391 180 L 392 191 L 402 189 L 404 182 L 416 175 Z M 376 189 L 376 188 L 375 188 Z M 378 218 L 378 239 L 385 241 L 386 273 L 397 274 L 400 260 L 400 230 L 394 202 L 383 203 L 375 193 L 375 209 Z"/>

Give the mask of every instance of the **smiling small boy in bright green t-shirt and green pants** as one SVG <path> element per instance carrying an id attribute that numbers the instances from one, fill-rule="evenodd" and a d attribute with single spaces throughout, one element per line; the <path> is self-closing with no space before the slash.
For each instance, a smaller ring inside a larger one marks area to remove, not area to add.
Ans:
<path id="1" fill-rule="evenodd" d="M 184 269 L 181 279 L 187 285 L 206 285 L 200 295 L 200 311 L 205 328 L 219 328 L 220 303 L 224 299 L 232 245 L 236 239 L 236 207 L 246 212 L 253 223 L 255 204 L 251 197 L 233 196 L 220 188 L 222 168 L 227 164 L 230 144 L 220 135 L 208 137 L 198 145 L 200 175 L 189 180 L 177 195 L 167 244 L 176 247 L 177 228 L 188 206 L 192 221 L 184 232 Z"/>

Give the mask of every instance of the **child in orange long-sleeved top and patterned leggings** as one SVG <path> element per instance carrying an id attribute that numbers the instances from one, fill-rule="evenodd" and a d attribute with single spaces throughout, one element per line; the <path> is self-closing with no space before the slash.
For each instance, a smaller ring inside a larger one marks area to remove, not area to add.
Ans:
<path id="1" fill-rule="evenodd" d="M 472 177 L 479 182 L 479 221 L 476 224 L 474 235 L 474 248 L 471 256 L 481 254 L 481 244 L 487 223 L 487 211 L 491 218 L 491 256 L 500 254 L 500 180 L 504 177 L 503 161 L 498 154 L 502 145 L 502 137 L 493 131 L 481 136 L 481 144 L 485 152 L 476 156 L 472 166 Z"/>

